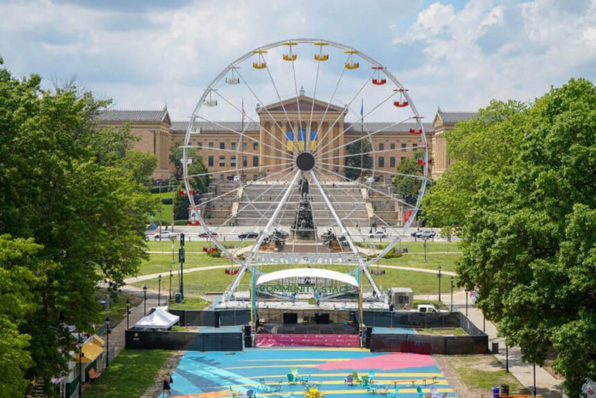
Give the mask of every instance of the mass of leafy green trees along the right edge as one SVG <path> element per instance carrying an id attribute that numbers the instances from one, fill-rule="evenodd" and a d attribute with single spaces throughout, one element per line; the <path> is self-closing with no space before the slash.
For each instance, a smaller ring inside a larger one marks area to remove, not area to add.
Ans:
<path id="1" fill-rule="evenodd" d="M 527 361 L 554 348 L 577 397 L 596 379 L 596 88 L 493 102 L 447 137 L 454 162 L 425 206 L 461 223 L 459 282 Z"/>

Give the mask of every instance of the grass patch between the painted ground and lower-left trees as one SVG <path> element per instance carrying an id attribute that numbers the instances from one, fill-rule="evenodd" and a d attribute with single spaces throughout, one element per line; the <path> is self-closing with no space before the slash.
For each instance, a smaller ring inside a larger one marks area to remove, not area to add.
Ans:
<path id="1" fill-rule="evenodd" d="M 155 384 L 157 374 L 170 356 L 161 349 L 123 349 L 109 363 L 109 370 L 87 384 L 85 398 L 142 397 Z"/>

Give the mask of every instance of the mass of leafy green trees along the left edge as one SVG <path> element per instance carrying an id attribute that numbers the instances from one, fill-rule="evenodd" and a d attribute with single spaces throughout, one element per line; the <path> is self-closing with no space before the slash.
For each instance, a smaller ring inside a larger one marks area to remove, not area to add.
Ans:
<path id="1" fill-rule="evenodd" d="M 66 325 L 91 330 L 101 310 L 97 282 L 116 289 L 146 257 L 156 161 L 128 130 L 95 128 L 108 104 L 0 68 L 0 377 L 16 389 L 0 396 L 60 374 Z"/>

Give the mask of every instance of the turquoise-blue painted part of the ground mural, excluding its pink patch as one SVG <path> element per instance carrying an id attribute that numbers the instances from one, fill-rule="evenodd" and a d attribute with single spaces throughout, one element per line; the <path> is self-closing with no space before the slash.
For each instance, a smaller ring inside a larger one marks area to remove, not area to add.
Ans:
<path id="1" fill-rule="evenodd" d="M 257 393 L 257 397 L 279 397 L 271 392 L 264 392 L 260 387 L 261 379 L 267 383 L 283 383 L 281 396 L 304 397 L 304 387 L 301 384 L 290 385 L 286 375 L 293 367 L 297 368 L 298 374 L 310 374 L 309 383 L 318 383 L 319 389 L 328 398 L 365 398 L 371 397 L 362 386 L 347 386 L 344 378 L 356 370 L 360 375 L 375 372 L 374 380 L 380 386 L 388 386 L 389 392 L 394 390 L 393 381 L 402 381 L 402 390 L 409 392 L 398 392 L 397 398 L 418 398 L 415 392 L 416 386 L 421 386 L 423 392 L 428 392 L 430 386 L 423 386 L 421 379 L 424 374 L 439 374 L 437 384 L 439 391 L 448 389 L 450 386 L 446 379 L 440 374 L 434 361 L 425 360 L 424 363 L 432 363 L 428 366 L 403 367 L 401 369 L 380 369 L 375 368 L 375 358 L 387 356 L 388 353 L 371 353 L 366 349 L 319 349 L 319 348 L 254 348 L 246 349 L 244 352 L 187 352 L 182 361 L 178 364 L 173 373 L 174 383 L 172 395 L 196 395 L 200 398 L 202 393 L 229 392 L 231 386 L 234 390 L 247 394 L 249 390 Z M 406 361 L 407 361 L 407 357 Z M 315 366 L 327 364 L 327 366 L 341 366 L 342 361 L 360 360 L 368 363 L 365 368 L 351 368 L 322 370 Z M 377 363 L 383 360 L 379 358 Z M 403 363 L 403 362 L 402 362 Z M 382 366 L 382 365 L 379 365 Z M 396 365 L 397 366 L 397 365 Z M 407 362 L 405 362 L 407 366 Z M 412 388 L 411 381 L 416 381 Z M 267 394 L 267 395 L 264 395 Z M 441 397 L 443 392 L 439 394 Z M 218 395 L 220 396 L 220 395 Z M 223 396 L 231 396 L 230 394 Z M 377 393 L 376 397 L 385 398 L 385 394 Z M 453 392 L 448 392 L 447 397 L 455 397 Z"/>

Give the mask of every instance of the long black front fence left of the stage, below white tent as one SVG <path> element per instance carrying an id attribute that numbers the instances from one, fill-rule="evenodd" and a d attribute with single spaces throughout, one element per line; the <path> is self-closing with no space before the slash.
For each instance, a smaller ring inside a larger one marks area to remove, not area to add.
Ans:
<path id="1" fill-rule="evenodd" d="M 125 332 L 125 347 L 183 351 L 242 351 L 243 334 L 241 331 L 236 333 L 193 333 L 128 329 Z"/>

